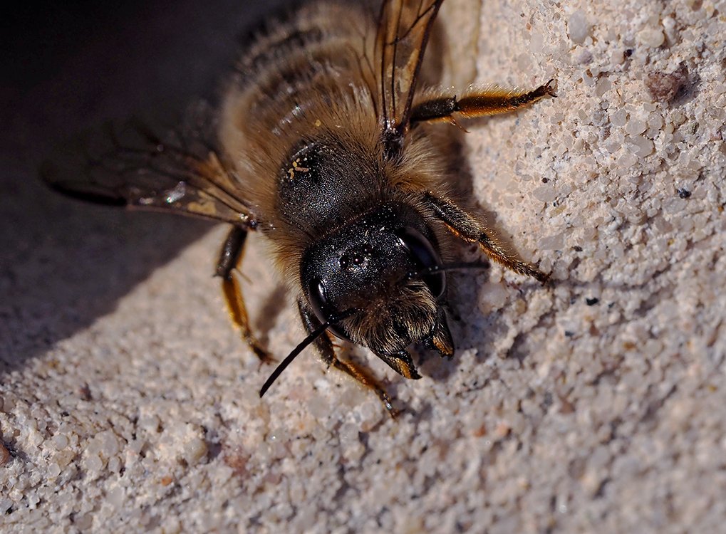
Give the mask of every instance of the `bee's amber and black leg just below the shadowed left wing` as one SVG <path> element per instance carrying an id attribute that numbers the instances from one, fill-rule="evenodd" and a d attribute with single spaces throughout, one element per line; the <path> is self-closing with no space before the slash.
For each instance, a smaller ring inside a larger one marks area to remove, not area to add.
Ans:
<path id="1" fill-rule="evenodd" d="M 227 309 L 232 322 L 239 327 L 242 333 L 242 339 L 250 346 L 253 353 L 260 358 L 261 361 L 273 361 L 272 356 L 261 348 L 250 329 L 250 319 L 245 308 L 245 300 L 242 298 L 242 287 L 240 282 L 233 276 L 234 268 L 242 263 L 242 252 L 245 249 L 245 241 L 247 240 L 247 229 L 239 226 L 232 226 L 227 239 L 222 245 L 219 253 L 219 261 L 217 262 L 216 276 L 222 279 L 222 292 L 224 299 L 227 300 Z"/>

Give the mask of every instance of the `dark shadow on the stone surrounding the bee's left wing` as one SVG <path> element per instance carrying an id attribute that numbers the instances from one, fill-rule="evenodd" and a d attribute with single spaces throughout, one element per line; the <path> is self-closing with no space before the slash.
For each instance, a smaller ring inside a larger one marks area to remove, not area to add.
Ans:
<path id="1" fill-rule="evenodd" d="M 62 198 L 38 178 L 44 157 L 107 119 L 168 120 L 196 98 L 213 97 L 237 37 L 285 3 L 30 2 L 4 19 L 1 373 L 113 311 L 211 228 Z"/>

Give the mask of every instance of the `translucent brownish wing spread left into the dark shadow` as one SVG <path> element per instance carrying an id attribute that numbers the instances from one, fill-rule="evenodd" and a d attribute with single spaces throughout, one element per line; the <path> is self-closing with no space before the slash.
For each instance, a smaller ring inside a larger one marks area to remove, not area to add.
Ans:
<path id="1" fill-rule="evenodd" d="M 109 123 L 62 147 L 44 163 L 41 176 L 53 189 L 91 202 L 237 225 L 256 222 L 232 167 L 211 141 L 211 108 L 199 104 L 180 128 L 162 135 L 156 129 L 135 120 Z"/>

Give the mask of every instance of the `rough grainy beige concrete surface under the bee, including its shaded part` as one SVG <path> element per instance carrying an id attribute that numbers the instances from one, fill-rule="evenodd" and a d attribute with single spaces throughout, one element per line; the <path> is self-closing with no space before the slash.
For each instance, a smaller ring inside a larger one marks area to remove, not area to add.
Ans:
<path id="1" fill-rule="evenodd" d="M 395 421 L 311 353 L 257 397 L 271 368 L 211 277 L 223 228 L 36 181 L 64 132 L 207 91 L 260 12 L 21 12 L 1 115 L 4 532 L 722 530 L 726 2 L 449 3 L 450 79 L 558 81 L 468 124 L 461 165 L 555 282 L 453 276 L 458 353 L 422 355 L 418 382 L 359 351 L 407 407 Z M 283 356 L 303 334 L 262 253 L 245 290 Z"/>

